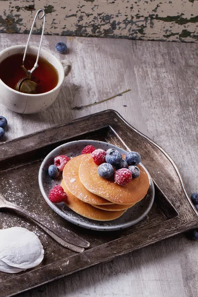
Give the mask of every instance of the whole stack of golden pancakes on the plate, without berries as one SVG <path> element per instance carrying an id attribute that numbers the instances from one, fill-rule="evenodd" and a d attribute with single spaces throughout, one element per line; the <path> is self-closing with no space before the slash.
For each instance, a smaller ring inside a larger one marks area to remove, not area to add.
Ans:
<path id="1" fill-rule="evenodd" d="M 61 186 L 67 194 L 65 202 L 80 215 L 110 221 L 120 217 L 148 192 L 149 180 L 141 165 L 140 176 L 126 186 L 99 176 L 92 154 L 72 158 L 64 167 Z"/>

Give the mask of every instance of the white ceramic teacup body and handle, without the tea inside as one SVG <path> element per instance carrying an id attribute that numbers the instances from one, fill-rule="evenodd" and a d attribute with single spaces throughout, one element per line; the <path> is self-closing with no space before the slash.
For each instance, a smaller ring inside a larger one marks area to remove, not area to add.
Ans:
<path id="1" fill-rule="evenodd" d="M 13 46 L 0 52 L 0 63 L 10 55 L 24 53 L 25 45 Z M 29 46 L 27 53 L 37 55 L 38 48 Z M 59 61 L 53 54 L 41 49 L 40 56 L 51 63 L 58 72 L 58 83 L 55 88 L 42 94 L 25 94 L 8 87 L 0 79 L 0 103 L 8 109 L 18 113 L 35 113 L 49 107 L 60 92 L 65 76 L 71 71 L 71 62 L 67 59 Z M 22 62 L 22 61 L 21 61 Z"/>

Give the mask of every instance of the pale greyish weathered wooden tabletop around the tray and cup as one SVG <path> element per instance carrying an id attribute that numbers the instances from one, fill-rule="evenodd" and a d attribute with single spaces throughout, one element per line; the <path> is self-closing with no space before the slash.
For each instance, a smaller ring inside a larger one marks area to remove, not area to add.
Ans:
<path id="1" fill-rule="evenodd" d="M 33 45 L 39 41 L 33 36 Z M 60 41 L 68 46 L 66 55 L 55 50 Z M 0 49 L 26 42 L 27 35 L 0 35 Z M 0 142 L 115 109 L 170 154 L 189 195 L 198 191 L 198 44 L 45 36 L 42 47 L 70 59 L 73 70 L 44 112 L 17 114 L 0 104 L 8 120 Z M 198 242 L 182 234 L 20 296 L 197 297 Z"/>

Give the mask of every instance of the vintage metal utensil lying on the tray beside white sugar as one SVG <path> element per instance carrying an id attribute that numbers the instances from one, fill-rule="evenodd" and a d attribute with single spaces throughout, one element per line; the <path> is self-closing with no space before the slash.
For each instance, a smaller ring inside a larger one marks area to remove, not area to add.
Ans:
<path id="1" fill-rule="evenodd" d="M 40 228 L 42 228 L 46 233 L 49 234 L 50 237 L 52 237 L 58 244 L 60 244 L 63 247 L 67 247 L 73 251 L 76 252 L 83 252 L 85 250 L 84 247 L 89 247 L 90 243 L 86 240 L 82 239 L 80 236 L 78 236 L 73 231 L 70 231 L 68 229 L 62 228 L 61 231 L 54 230 L 53 228 L 46 226 L 41 219 L 39 219 L 38 216 L 35 214 L 29 212 L 26 209 L 23 209 L 22 207 L 9 202 L 5 200 L 5 198 L 0 195 L 0 208 L 11 208 L 17 211 L 20 211 L 21 213 L 25 214 L 27 217 L 29 217 L 36 225 L 38 225 Z"/>

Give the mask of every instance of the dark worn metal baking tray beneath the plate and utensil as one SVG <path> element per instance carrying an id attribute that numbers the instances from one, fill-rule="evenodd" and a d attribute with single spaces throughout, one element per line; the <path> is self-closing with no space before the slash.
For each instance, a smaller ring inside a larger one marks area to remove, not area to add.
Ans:
<path id="1" fill-rule="evenodd" d="M 42 160 L 53 148 L 82 139 L 105 141 L 140 152 L 142 162 L 155 184 L 153 206 L 141 222 L 116 232 L 93 231 L 65 221 L 48 206 L 38 184 Z M 21 226 L 34 231 L 44 246 L 45 257 L 34 269 L 19 274 L 0 272 L 0 297 L 14 296 L 198 227 L 196 209 L 186 193 L 174 161 L 116 111 L 102 111 L 14 139 L 1 144 L 0 152 L 0 193 L 3 196 L 42 216 L 49 226 L 65 226 L 91 243 L 83 253 L 75 253 L 58 245 L 19 213 L 1 210 L 0 228 Z"/>

